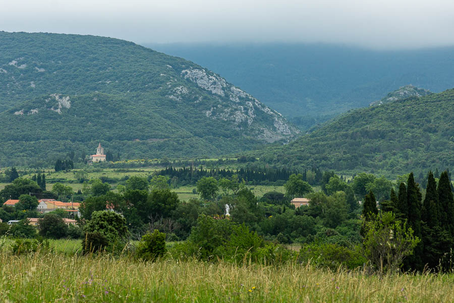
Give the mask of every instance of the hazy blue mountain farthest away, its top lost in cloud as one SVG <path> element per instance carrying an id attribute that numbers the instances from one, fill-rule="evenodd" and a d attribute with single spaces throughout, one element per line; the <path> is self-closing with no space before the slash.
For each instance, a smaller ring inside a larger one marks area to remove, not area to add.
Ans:
<path id="1" fill-rule="evenodd" d="M 454 47 L 374 51 L 329 44 L 150 44 L 219 73 L 309 129 L 412 83 L 454 87 Z"/>

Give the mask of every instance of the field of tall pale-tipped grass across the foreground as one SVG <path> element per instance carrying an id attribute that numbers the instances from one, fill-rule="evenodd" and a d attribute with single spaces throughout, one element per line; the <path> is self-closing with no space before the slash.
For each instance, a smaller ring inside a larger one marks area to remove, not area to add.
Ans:
<path id="1" fill-rule="evenodd" d="M 0 300 L 12 302 L 452 302 L 452 275 L 328 272 L 166 260 L 0 253 Z"/>

